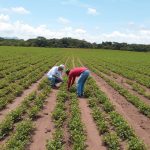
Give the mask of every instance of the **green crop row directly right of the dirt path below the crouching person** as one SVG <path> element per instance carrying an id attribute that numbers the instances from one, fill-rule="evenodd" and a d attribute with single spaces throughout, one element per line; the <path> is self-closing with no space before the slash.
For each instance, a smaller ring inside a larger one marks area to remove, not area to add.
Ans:
<path id="1" fill-rule="evenodd" d="M 47 150 L 62 150 L 64 147 L 63 125 L 67 119 L 65 103 L 68 100 L 68 95 L 63 89 L 64 87 L 61 86 L 57 95 L 55 110 L 52 112 L 52 119 L 55 124 L 55 132 L 53 133 L 53 139 L 50 139 L 47 142 Z"/>

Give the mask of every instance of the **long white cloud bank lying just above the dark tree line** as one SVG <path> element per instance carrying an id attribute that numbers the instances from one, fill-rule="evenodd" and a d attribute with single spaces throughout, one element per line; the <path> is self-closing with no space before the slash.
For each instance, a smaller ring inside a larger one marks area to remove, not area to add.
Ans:
<path id="1" fill-rule="evenodd" d="M 50 29 L 46 25 L 32 26 L 24 22 L 11 22 L 9 16 L 0 15 L 0 36 L 18 37 L 22 39 L 36 38 L 43 36 L 46 38 L 72 37 L 85 39 L 90 42 L 101 43 L 102 41 L 115 41 L 127 43 L 150 44 L 150 29 L 137 28 L 135 30 L 112 31 L 110 33 L 89 33 L 84 28 L 63 27 L 59 30 Z"/>

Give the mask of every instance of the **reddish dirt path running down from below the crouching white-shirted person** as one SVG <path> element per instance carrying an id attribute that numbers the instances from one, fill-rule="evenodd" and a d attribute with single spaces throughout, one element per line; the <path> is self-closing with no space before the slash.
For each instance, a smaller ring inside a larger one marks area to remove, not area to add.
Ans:
<path id="1" fill-rule="evenodd" d="M 51 113 L 56 105 L 57 90 L 52 90 L 44 109 L 40 112 L 40 118 L 35 122 L 36 131 L 32 136 L 32 143 L 29 150 L 46 150 L 46 141 L 52 139 L 54 123 L 52 122 Z"/>

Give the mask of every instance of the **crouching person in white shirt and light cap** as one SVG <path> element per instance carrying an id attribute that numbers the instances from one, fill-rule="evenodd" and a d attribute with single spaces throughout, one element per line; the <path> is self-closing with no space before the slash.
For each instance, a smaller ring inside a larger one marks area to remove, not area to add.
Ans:
<path id="1" fill-rule="evenodd" d="M 63 82 L 62 73 L 64 71 L 65 66 L 61 64 L 60 66 L 52 67 L 47 73 L 47 77 L 51 82 L 52 88 L 57 88 L 56 84 Z"/>

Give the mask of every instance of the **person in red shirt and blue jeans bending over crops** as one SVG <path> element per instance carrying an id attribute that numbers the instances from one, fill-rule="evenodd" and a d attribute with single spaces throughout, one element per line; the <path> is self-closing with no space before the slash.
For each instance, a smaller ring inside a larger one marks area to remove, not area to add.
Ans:
<path id="1" fill-rule="evenodd" d="M 70 87 L 74 84 L 76 77 L 79 77 L 77 82 L 77 94 L 79 97 L 83 96 L 84 84 L 89 76 L 90 71 L 85 67 L 77 67 L 71 70 L 67 70 L 68 75 L 68 91 Z"/>

